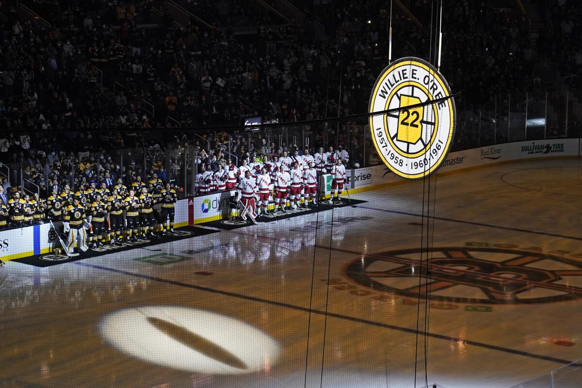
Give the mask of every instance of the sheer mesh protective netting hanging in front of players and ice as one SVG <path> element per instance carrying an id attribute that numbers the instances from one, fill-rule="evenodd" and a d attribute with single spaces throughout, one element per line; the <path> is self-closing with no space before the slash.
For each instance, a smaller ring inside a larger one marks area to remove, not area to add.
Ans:
<path id="1" fill-rule="evenodd" d="M 122 132 L 97 152 L 54 133 L 70 155 L 6 166 L 5 381 L 427 385 L 437 175 L 389 172 L 367 122 Z"/>

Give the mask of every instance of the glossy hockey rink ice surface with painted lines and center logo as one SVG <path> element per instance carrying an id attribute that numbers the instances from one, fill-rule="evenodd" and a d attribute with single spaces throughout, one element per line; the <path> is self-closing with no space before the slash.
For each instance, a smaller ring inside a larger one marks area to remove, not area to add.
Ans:
<path id="1" fill-rule="evenodd" d="M 0 387 L 385 387 L 414 341 L 396 273 L 418 257 L 415 185 L 354 194 L 368 202 L 335 209 L 333 230 L 320 213 L 317 241 L 313 214 L 49 268 L 8 262 Z M 432 258 L 462 271 L 432 284 L 428 382 L 509 388 L 582 358 L 579 161 L 437 187 Z"/>

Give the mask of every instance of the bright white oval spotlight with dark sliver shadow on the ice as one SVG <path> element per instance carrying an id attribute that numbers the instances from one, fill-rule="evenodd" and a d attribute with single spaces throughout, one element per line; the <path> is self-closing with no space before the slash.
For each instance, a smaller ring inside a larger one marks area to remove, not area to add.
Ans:
<path id="1" fill-rule="evenodd" d="M 235 318 L 201 309 L 147 306 L 112 312 L 101 335 L 117 350 L 187 372 L 238 374 L 274 365 L 279 344 Z"/>

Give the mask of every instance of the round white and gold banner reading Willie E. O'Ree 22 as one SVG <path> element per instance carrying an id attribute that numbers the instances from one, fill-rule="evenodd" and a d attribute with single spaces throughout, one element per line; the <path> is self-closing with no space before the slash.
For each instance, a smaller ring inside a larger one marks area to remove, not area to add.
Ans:
<path id="1" fill-rule="evenodd" d="M 455 134 L 456 109 L 445 78 L 430 63 L 402 58 L 386 67 L 374 84 L 368 112 L 432 104 L 370 116 L 378 154 L 392 172 L 418 179 L 445 161 Z M 444 99 L 443 99 L 444 98 Z"/>

